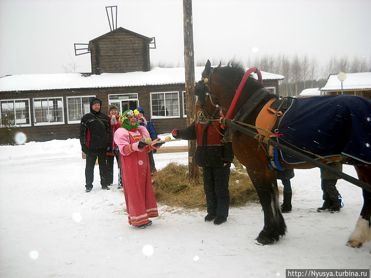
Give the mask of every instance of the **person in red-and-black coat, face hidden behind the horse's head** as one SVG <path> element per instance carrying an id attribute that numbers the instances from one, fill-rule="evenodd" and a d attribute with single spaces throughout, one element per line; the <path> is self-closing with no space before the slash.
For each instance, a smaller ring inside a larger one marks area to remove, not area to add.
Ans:
<path id="1" fill-rule="evenodd" d="M 186 129 L 174 129 L 174 138 L 197 139 L 196 163 L 203 167 L 204 190 L 208 215 L 206 222 L 214 220 L 214 225 L 227 221 L 229 211 L 229 175 L 233 160 L 232 143 L 221 141 L 223 130 L 219 121 L 206 124 L 193 122 Z"/>

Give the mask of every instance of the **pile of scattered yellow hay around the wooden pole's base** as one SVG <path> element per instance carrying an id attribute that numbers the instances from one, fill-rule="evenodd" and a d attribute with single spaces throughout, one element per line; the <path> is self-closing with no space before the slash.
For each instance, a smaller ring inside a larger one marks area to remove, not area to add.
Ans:
<path id="1" fill-rule="evenodd" d="M 170 163 L 157 171 L 152 179 L 158 203 L 184 208 L 206 208 L 202 171 L 200 182 L 190 182 L 188 166 Z M 231 170 L 229 178 L 230 206 L 241 206 L 258 200 L 246 171 Z"/>

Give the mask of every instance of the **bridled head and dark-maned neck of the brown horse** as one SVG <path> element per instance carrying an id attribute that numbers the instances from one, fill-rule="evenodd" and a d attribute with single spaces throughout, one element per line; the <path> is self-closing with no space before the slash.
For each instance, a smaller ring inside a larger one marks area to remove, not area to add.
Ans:
<path id="1" fill-rule="evenodd" d="M 221 67 L 219 64 L 218 67 L 212 68 L 208 60 L 202 73 L 202 80 L 195 86 L 195 95 L 198 97 L 197 105 L 205 118 L 214 118 L 218 114 L 225 115 L 227 113 L 244 74 L 245 69 L 243 67 Z M 244 95 L 237 106 L 246 102 L 250 92 L 254 93 L 257 88 L 263 87 L 253 77 L 248 78 L 246 85 L 243 90 Z M 238 109 L 237 106 L 236 109 Z"/>

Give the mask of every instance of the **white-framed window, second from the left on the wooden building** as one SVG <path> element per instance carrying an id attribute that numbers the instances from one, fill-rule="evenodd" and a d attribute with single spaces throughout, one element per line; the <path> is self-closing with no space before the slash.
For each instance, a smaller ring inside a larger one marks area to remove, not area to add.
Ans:
<path id="1" fill-rule="evenodd" d="M 62 97 L 34 98 L 35 126 L 64 124 Z"/>

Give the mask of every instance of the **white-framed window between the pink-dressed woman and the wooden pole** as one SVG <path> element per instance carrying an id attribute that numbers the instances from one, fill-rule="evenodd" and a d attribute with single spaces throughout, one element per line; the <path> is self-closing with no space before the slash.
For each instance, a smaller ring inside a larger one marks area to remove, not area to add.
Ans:
<path id="1" fill-rule="evenodd" d="M 179 93 L 151 93 L 151 118 L 179 118 Z"/>

